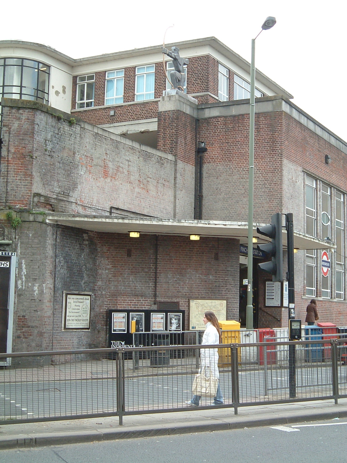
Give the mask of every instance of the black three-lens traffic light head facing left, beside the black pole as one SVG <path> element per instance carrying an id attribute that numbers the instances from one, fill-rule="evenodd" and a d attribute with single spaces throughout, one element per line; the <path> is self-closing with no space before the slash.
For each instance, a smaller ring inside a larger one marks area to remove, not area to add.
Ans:
<path id="1" fill-rule="evenodd" d="M 283 281 L 283 247 L 282 247 L 282 214 L 271 217 L 271 224 L 257 227 L 260 235 L 271 238 L 271 243 L 258 244 L 257 248 L 272 257 L 270 262 L 258 264 L 260 269 L 273 275 L 273 282 Z"/>

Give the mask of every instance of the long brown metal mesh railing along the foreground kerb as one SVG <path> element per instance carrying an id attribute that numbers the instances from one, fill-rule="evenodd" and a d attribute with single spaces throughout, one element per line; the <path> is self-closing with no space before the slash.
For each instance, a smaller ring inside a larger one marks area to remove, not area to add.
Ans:
<path id="1" fill-rule="evenodd" d="M 186 410 L 203 357 L 218 350 L 223 405 L 239 407 L 347 397 L 346 339 L 167 345 L 0 354 L 0 424 Z M 161 338 L 163 341 L 164 338 Z M 168 341 L 166 340 L 166 343 Z M 295 346 L 295 397 L 289 346 Z M 256 354 L 257 361 L 254 361 Z M 253 359 L 243 362 L 244 359 Z M 213 363 L 213 362 L 212 362 Z M 211 367 L 212 368 L 212 367 Z M 202 397 L 199 408 L 212 408 Z"/>

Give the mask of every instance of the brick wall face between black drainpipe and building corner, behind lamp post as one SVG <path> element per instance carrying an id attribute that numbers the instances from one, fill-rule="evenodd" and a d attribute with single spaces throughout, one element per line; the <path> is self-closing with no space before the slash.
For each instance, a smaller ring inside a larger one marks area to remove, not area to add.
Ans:
<path id="1" fill-rule="evenodd" d="M 282 212 L 283 114 L 255 116 L 254 221 L 266 222 Z M 204 154 L 204 206 L 206 220 L 248 220 L 248 114 L 202 119 L 199 140 Z"/>

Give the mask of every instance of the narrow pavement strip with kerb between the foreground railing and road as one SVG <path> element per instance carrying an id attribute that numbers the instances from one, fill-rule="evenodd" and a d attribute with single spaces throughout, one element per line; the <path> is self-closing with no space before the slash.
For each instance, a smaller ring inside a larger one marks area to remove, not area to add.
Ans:
<path id="1" fill-rule="evenodd" d="M 347 398 L 291 404 L 194 409 L 174 413 L 68 419 L 0 426 L 0 449 L 76 444 L 102 440 L 144 438 L 190 432 L 212 432 L 256 426 L 287 425 L 324 419 L 347 418 Z"/>

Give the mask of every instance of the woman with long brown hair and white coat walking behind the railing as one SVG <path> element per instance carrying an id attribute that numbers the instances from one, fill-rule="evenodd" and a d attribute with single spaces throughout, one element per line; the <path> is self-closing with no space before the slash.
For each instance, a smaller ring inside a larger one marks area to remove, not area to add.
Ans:
<path id="1" fill-rule="evenodd" d="M 215 313 L 212 311 L 205 312 L 203 322 L 206 325 L 206 330 L 201 344 L 222 344 L 221 330 Z M 211 375 L 218 379 L 218 387 L 213 405 L 223 405 L 223 394 L 219 385 L 218 349 L 201 349 L 200 357 L 199 373 L 204 371 L 206 377 L 209 378 Z M 200 399 L 200 395 L 193 395 L 192 400 L 186 401 L 186 404 L 190 407 L 198 407 Z"/>

